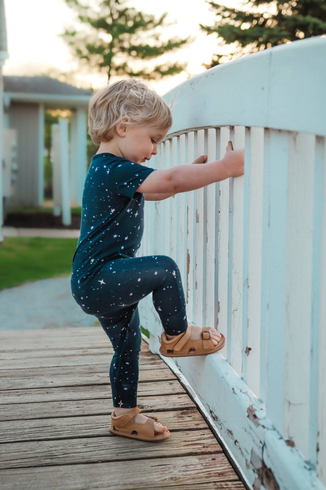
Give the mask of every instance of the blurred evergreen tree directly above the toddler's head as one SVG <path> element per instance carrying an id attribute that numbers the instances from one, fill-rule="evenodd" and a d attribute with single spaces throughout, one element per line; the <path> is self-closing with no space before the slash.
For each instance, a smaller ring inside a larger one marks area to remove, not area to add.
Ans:
<path id="1" fill-rule="evenodd" d="M 155 59 L 193 41 L 189 37 L 169 39 L 165 43 L 159 41 L 157 28 L 171 25 L 164 24 L 167 13 L 156 21 L 154 16 L 126 6 L 129 0 L 102 0 L 98 11 L 82 5 L 79 0 L 65 2 L 77 10 L 79 21 L 92 32 L 85 36 L 76 30 L 65 29 L 61 37 L 72 47 L 77 58 L 86 60 L 89 67 L 101 72 L 105 70 L 108 80 L 113 75 L 157 80 L 185 70 L 186 65 L 178 63 L 164 63 L 153 70 L 146 66 L 145 60 Z M 144 60 L 141 63 L 144 66 L 145 62 L 144 69 L 137 69 L 139 60 Z"/>

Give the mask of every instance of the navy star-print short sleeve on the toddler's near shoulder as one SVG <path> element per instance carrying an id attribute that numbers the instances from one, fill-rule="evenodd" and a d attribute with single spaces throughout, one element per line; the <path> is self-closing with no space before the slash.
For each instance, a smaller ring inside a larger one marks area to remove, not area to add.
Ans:
<path id="1" fill-rule="evenodd" d="M 112 192 L 135 199 L 139 195 L 136 190 L 140 184 L 155 170 L 130 160 L 120 159 L 110 166 L 109 179 Z"/>

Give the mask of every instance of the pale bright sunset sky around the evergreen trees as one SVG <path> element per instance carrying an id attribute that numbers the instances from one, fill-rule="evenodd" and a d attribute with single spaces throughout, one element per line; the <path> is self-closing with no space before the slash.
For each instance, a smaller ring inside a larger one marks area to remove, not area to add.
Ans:
<path id="1" fill-rule="evenodd" d="M 82 3 L 90 3 L 91 0 L 82 0 Z M 98 1 L 93 4 L 98 5 Z M 236 0 L 221 1 L 224 5 L 241 9 L 241 3 Z M 169 52 L 159 62 L 179 61 L 187 62 L 187 70 L 191 75 L 201 73 L 206 69 L 202 63 L 209 63 L 214 52 L 227 53 L 229 47 L 219 47 L 216 34 L 206 36 L 201 32 L 199 23 L 213 25 L 216 18 L 210 11 L 210 5 L 205 0 L 196 0 L 196 9 L 189 8 L 188 0 L 165 0 L 153 2 L 152 0 L 130 0 L 129 6 L 134 6 L 147 14 L 155 15 L 158 19 L 164 12 L 168 12 L 166 22 L 175 24 L 164 29 L 161 41 L 174 36 L 181 38 L 189 35 L 196 40 L 188 47 Z M 77 14 L 68 7 L 64 0 L 4 0 L 7 40 L 9 58 L 5 61 L 2 73 L 4 75 L 38 75 L 52 70 L 52 76 L 62 72 L 76 72 L 78 64 L 70 53 L 65 41 L 58 37 L 64 28 L 82 27 L 77 19 Z M 231 45 L 233 49 L 234 45 Z M 152 68 L 157 60 L 148 62 Z M 144 67 L 143 64 L 139 65 Z M 174 86 L 188 78 L 188 73 L 182 72 L 173 77 L 161 81 L 150 81 L 149 84 L 163 95 Z M 57 76 L 59 79 L 60 77 Z M 115 81 L 118 78 L 111 78 Z M 99 73 L 94 69 L 85 67 L 78 70 L 73 77 L 66 81 L 79 87 L 98 89 L 107 83 L 107 74 Z"/>

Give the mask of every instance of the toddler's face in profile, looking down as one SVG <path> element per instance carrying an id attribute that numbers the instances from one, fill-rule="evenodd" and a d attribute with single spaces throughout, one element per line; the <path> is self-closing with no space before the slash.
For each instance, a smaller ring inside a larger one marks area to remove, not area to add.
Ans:
<path id="1" fill-rule="evenodd" d="M 165 138 L 169 129 L 162 129 L 155 124 L 133 124 L 125 127 L 124 136 L 118 138 L 119 148 L 124 158 L 140 165 L 156 155 L 157 145 Z"/>

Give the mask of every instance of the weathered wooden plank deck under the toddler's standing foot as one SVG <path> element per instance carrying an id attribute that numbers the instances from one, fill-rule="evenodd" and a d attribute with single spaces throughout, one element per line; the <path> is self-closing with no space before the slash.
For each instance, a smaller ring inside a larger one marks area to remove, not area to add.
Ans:
<path id="1" fill-rule="evenodd" d="M 0 332 L 0 488 L 244 489 L 163 360 L 142 343 L 138 406 L 171 432 L 162 442 L 110 434 L 101 327 Z"/>

